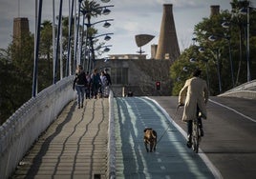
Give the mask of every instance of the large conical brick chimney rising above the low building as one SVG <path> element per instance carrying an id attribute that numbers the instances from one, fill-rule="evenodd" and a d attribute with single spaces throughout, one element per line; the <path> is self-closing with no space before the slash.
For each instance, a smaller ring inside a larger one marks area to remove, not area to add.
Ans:
<path id="1" fill-rule="evenodd" d="M 156 59 L 176 60 L 179 55 L 180 48 L 173 17 L 173 5 L 164 4 Z"/>

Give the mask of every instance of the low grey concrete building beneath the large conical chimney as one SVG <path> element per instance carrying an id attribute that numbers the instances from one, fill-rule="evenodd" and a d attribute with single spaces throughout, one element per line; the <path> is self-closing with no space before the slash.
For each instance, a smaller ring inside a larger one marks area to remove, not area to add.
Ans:
<path id="1" fill-rule="evenodd" d="M 135 96 L 170 95 L 171 64 L 170 60 L 100 59 L 96 61 L 95 68 L 108 69 L 113 84 L 111 89 L 115 96 L 125 96 L 128 91 L 133 91 Z M 157 81 L 160 82 L 160 90 L 156 89 Z"/>

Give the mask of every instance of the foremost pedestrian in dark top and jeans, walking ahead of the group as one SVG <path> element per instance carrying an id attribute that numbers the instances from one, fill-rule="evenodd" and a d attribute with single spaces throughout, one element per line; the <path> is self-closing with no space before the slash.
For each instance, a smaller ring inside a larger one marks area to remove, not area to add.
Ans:
<path id="1" fill-rule="evenodd" d="M 86 80 L 85 72 L 82 66 L 78 65 L 77 69 L 75 70 L 75 80 L 73 84 L 73 89 L 75 89 L 77 92 L 78 109 L 83 108 L 84 92 L 87 85 L 88 82 Z"/>

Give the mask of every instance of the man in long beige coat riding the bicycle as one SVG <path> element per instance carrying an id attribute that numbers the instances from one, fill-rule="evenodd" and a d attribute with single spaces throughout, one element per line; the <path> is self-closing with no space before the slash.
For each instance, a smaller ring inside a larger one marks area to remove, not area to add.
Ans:
<path id="1" fill-rule="evenodd" d="M 208 89 L 205 80 L 201 78 L 202 70 L 195 70 L 193 77 L 186 80 L 179 94 L 179 106 L 184 105 L 182 121 L 187 122 L 187 147 L 191 148 L 192 121 L 198 117 L 201 136 L 203 136 L 202 118 L 206 119 L 206 103 L 208 101 Z M 184 102 L 185 99 L 185 102 Z"/>

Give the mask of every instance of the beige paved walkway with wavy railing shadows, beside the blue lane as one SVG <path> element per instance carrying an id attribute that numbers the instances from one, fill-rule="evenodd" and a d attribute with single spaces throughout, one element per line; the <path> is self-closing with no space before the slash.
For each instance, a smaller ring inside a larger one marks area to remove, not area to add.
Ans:
<path id="1" fill-rule="evenodd" d="M 109 100 L 71 102 L 42 134 L 11 178 L 106 178 Z"/>

